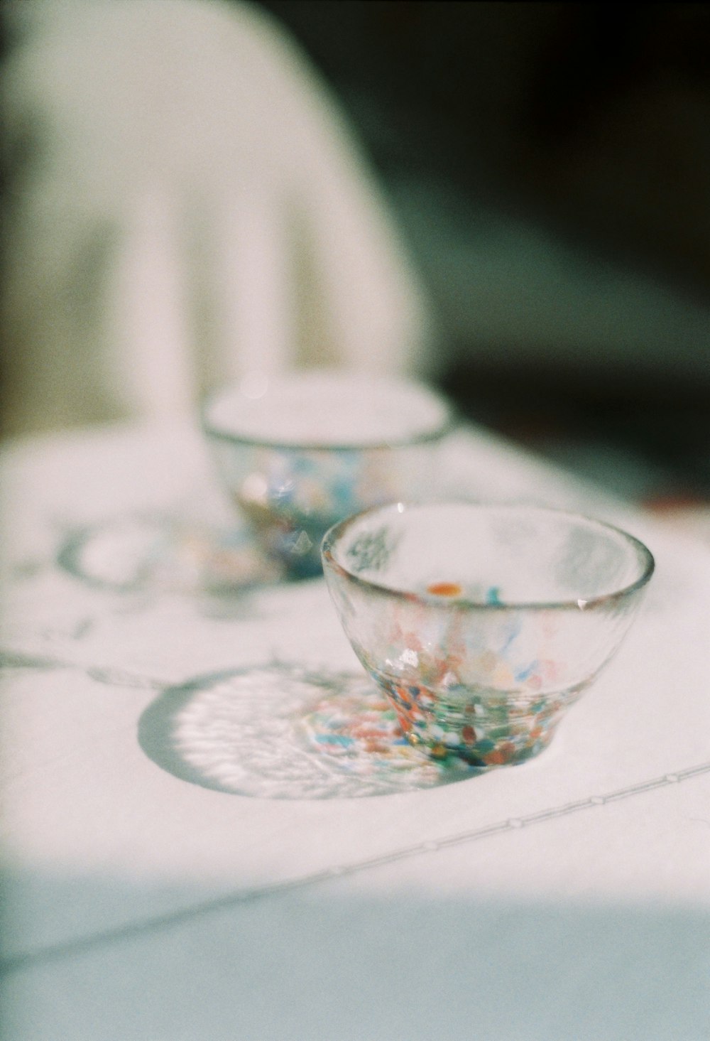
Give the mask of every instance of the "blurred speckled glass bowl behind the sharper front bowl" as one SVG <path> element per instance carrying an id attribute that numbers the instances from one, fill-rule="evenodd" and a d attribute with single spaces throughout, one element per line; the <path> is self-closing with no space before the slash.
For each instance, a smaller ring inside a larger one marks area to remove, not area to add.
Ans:
<path id="1" fill-rule="evenodd" d="M 336 520 L 430 497 L 451 423 L 446 401 L 422 384 L 321 370 L 245 380 L 203 411 L 230 499 L 294 577 L 320 574 Z"/>

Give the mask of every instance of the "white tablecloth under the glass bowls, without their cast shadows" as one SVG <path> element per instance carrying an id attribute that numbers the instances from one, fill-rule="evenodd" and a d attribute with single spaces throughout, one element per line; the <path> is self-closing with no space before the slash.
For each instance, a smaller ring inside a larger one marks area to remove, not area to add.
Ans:
<path id="1" fill-rule="evenodd" d="M 638 620 L 536 760 L 271 798 L 170 768 L 139 729 L 206 674 L 358 672 L 322 581 L 93 587 L 56 563 L 73 530 L 227 518 L 198 433 L 5 450 L 8 1041 L 710 1037 L 710 553 L 479 430 L 444 479 L 637 534 Z"/>

